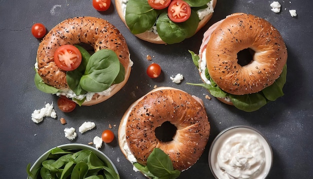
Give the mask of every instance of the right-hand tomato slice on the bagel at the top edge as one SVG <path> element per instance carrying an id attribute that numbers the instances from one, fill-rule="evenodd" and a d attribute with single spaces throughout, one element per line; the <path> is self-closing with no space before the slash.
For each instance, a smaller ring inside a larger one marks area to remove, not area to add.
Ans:
<path id="1" fill-rule="evenodd" d="M 183 22 L 186 21 L 191 14 L 190 5 L 183 0 L 173 0 L 170 2 L 167 15 L 169 19 L 173 22 Z"/>

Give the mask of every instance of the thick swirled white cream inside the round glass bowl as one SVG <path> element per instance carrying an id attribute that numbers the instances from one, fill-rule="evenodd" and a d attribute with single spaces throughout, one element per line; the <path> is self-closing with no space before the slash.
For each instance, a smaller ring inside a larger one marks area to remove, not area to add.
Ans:
<path id="1" fill-rule="evenodd" d="M 209 160 L 217 178 L 264 178 L 270 169 L 270 146 L 252 129 L 231 128 L 213 145 Z"/>

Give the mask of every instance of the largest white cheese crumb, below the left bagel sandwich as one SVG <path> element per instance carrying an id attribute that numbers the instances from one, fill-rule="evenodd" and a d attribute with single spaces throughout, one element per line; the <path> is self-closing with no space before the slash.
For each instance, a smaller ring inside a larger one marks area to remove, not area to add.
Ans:
<path id="1" fill-rule="evenodd" d="M 53 102 L 52 104 L 45 104 L 45 107 L 34 110 L 31 114 L 31 120 L 35 123 L 41 122 L 43 120 L 43 117 L 56 117 L 56 112 L 53 109 Z"/>

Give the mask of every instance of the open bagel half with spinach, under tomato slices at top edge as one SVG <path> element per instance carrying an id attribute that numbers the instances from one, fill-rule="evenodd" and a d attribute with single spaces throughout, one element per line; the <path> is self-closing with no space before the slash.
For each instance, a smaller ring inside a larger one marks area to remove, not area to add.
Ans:
<path id="1" fill-rule="evenodd" d="M 183 22 L 173 22 L 168 17 L 168 7 L 154 9 L 147 1 L 115 0 L 115 6 L 131 33 L 157 44 L 178 43 L 191 37 L 209 21 L 216 5 L 216 0 L 186 0 L 191 7 L 190 17 Z"/>

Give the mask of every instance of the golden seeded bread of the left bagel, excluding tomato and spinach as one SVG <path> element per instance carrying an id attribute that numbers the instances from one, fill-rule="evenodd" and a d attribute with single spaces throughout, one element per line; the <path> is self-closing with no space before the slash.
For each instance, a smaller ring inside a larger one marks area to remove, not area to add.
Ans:
<path id="1" fill-rule="evenodd" d="M 123 81 L 113 84 L 106 94 L 91 93 L 91 99 L 85 100 L 82 105 L 93 105 L 108 99 L 127 82 L 132 61 L 129 58 L 125 38 L 119 30 L 101 18 L 73 17 L 54 26 L 44 36 L 37 50 L 37 73 L 44 83 L 61 91 L 58 93 L 64 94 L 70 90 L 66 81 L 66 71 L 60 69 L 53 59 L 54 51 L 64 44 L 88 44 L 94 51 L 111 49 L 116 53 L 119 62 L 125 69 Z"/>

